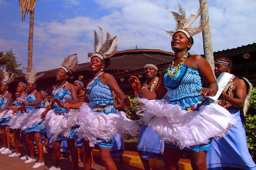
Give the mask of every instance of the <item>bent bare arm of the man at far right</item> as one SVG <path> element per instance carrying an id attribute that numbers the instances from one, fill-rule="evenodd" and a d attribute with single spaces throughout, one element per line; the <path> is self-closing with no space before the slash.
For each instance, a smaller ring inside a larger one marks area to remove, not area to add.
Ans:
<path id="1" fill-rule="evenodd" d="M 228 101 L 228 103 L 232 105 L 229 105 L 228 107 L 242 108 L 246 98 L 246 84 L 244 80 L 236 79 L 233 82 L 233 90 L 235 91 L 235 94 L 231 96 L 222 91 L 219 99 Z"/>

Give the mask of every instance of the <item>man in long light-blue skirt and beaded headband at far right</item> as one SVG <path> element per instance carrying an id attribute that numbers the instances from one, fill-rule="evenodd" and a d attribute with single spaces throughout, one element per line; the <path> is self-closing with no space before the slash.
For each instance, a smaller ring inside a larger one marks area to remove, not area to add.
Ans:
<path id="1" fill-rule="evenodd" d="M 218 78 L 223 72 L 231 73 L 233 63 L 229 58 L 221 57 L 215 61 L 215 75 Z M 208 169 L 256 169 L 248 151 L 243 117 L 249 104 L 251 83 L 242 77 L 232 74 L 227 91 L 222 91 L 219 105 L 226 108 L 237 120 L 226 137 L 213 139 L 211 149 L 207 152 Z"/>

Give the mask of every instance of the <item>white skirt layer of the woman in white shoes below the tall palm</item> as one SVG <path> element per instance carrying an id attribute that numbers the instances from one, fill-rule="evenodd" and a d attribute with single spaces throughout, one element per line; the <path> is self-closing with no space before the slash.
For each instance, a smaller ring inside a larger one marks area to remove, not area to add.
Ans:
<path id="1" fill-rule="evenodd" d="M 45 108 L 34 109 L 29 112 L 29 114 L 21 114 L 22 118 L 20 118 L 21 130 L 25 130 L 26 128 L 31 127 L 34 124 L 39 124 L 43 120 L 41 120 L 41 114 L 45 111 Z"/>

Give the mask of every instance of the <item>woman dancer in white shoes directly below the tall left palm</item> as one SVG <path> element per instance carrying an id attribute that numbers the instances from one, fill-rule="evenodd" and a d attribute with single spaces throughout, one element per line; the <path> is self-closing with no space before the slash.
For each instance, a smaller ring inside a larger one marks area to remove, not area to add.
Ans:
<path id="1" fill-rule="evenodd" d="M 36 80 L 41 78 L 44 74 L 36 76 L 34 66 L 27 67 L 25 69 L 27 70 L 25 73 L 25 79 L 27 80 L 27 93 L 26 96 L 20 100 L 21 106 L 17 109 L 20 110 L 26 108 L 26 114 L 23 114 L 24 118 L 22 120 L 21 129 L 25 130 L 25 137 L 31 157 L 26 160 L 25 163 L 36 162 L 33 168 L 38 168 L 44 166 L 42 135 L 45 133 L 46 129 L 44 123 L 39 119 L 40 117 L 38 117 L 44 109 L 41 109 L 43 107 L 41 93 L 36 91 Z M 38 159 L 35 155 L 34 141 L 36 142 L 38 150 Z"/>

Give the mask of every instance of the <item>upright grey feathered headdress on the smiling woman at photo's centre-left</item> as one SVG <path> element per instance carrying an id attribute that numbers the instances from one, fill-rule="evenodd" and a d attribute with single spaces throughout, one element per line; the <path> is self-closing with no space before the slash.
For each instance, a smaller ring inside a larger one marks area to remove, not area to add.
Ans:
<path id="1" fill-rule="evenodd" d="M 104 32 L 102 28 L 100 28 L 101 32 L 101 39 L 99 39 L 99 36 L 97 32 L 94 30 L 94 53 L 88 53 L 88 58 L 92 58 L 93 56 L 99 57 L 103 62 L 105 58 L 109 58 L 113 56 L 116 53 L 117 50 L 117 36 L 111 37 L 110 33 L 107 32 L 107 38 L 105 43 L 104 42 Z"/>

